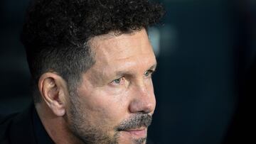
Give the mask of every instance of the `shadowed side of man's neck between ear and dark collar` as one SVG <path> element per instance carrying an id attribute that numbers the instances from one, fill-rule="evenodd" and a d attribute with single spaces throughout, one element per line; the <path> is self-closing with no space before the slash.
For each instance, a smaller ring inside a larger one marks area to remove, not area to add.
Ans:
<path id="1" fill-rule="evenodd" d="M 54 143 L 82 143 L 68 128 L 68 123 L 63 116 L 56 116 L 49 107 L 41 102 L 36 104 L 36 111 L 38 113 L 43 127 Z"/>

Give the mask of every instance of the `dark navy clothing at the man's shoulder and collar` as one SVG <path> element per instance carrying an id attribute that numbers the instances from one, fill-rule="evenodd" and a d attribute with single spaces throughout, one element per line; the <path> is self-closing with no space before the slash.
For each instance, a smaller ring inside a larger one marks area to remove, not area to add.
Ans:
<path id="1" fill-rule="evenodd" d="M 0 118 L 0 144 L 51 144 L 35 106 Z"/>

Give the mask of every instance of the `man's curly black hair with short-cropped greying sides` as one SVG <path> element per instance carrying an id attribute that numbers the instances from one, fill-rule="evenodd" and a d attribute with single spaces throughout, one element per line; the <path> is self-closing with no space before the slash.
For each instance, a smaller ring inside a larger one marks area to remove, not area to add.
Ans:
<path id="1" fill-rule="evenodd" d="M 41 74 L 53 71 L 74 86 L 95 63 L 87 45 L 90 38 L 147 29 L 163 15 L 163 6 L 148 0 L 32 1 L 21 42 L 34 85 Z"/>

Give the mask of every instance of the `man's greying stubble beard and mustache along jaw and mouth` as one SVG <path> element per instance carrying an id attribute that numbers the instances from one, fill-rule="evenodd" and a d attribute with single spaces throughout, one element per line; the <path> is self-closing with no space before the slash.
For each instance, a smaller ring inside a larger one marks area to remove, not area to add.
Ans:
<path id="1" fill-rule="evenodd" d="M 119 123 L 114 133 L 114 136 L 107 135 L 108 131 L 103 131 L 100 126 L 93 125 L 87 120 L 87 114 L 82 111 L 80 101 L 77 94 L 70 95 L 70 109 L 68 123 L 70 131 L 82 143 L 87 144 L 118 144 L 121 131 L 129 128 L 148 127 L 151 124 L 151 116 L 145 113 L 137 113 L 132 118 Z M 131 143 L 143 144 L 146 143 L 146 138 L 133 139 Z"/>

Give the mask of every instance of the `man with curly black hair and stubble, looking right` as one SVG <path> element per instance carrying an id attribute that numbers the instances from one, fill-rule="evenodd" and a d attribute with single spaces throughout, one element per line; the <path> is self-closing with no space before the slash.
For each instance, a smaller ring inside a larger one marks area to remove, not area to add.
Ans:
<path id="1" fill-rule="evenodd" d="M 36 0 L 21 40 L 34 104 L 1 121 L 1 143 L 146 143 L 156 58 L 147 0 Z"/>

